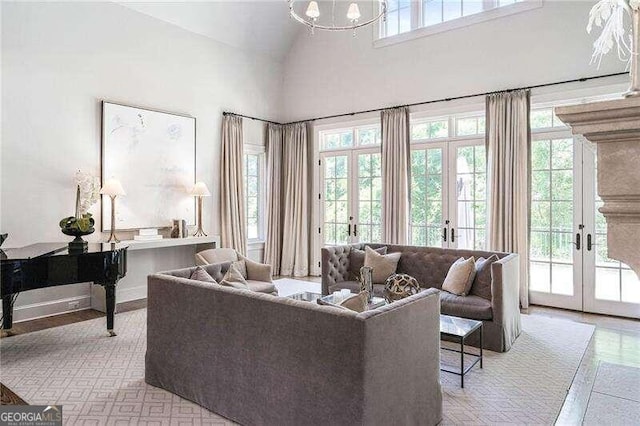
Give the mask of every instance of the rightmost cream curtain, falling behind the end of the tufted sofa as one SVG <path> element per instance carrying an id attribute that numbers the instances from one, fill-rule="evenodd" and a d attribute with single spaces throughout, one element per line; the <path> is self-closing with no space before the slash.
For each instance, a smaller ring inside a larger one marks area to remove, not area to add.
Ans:
<path id="1" fill-rule="evenodd" d="M 520 305 L 529 306 L 529 91 L 487 96 L 488 249 L 520 256 Z"/>

